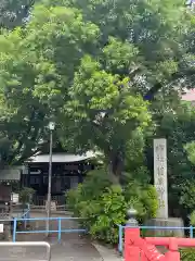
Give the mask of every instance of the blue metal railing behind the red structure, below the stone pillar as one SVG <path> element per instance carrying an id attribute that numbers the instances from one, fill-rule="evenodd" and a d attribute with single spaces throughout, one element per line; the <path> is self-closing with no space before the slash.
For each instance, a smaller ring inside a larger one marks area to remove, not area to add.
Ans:
<path id="1" fill-rule="evenodd" d="M 118 225 L 118 251 L 122 253 L 123 251 L 123 232 L 125 232 L 125 228 L 127 227 L 132 227 L 132 228 L 140 228 L 140 229 L 154 229 L 154 231 L 188 231 L 190 232 L 190 238 L 193 238 L 194 237 L 194 229 L 195 227 L 193 226 L 174 226 L 174 227 L 171 227 L 171 226 L 130 226 L 130 225 L 127 225 L 127 226 L 122 226 L 122 225 Z"/>

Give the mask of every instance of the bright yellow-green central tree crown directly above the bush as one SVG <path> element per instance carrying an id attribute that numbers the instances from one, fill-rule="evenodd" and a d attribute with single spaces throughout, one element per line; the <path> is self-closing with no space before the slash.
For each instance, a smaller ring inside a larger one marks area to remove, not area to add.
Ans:
<path id="1" fill-rule="evenodd" d="M 89 55 L 81 60 L 69 97 L 64 105 L 64 122 L 73 127 L 75 142 L 103 151 L 113 173 L 120 175 L 117 164 L 123 161 L 128 140 L 133 132 L 150 124 L 147 102 L 131 91 L 129 78 L 107 73 Z"/>

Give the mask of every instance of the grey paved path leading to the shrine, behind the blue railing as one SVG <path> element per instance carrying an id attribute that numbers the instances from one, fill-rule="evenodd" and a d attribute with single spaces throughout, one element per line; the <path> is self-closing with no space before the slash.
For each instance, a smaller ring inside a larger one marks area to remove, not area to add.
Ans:
<path id="1" fill-rule="evenodd" d="M 44 213 L 31 213 L 30 217 L 41 217 Z M 58 216 L 54 214 L 53 216 Z M 62 215 L 64 216 L 64 215 Z M 57 222 L 52 221 L 50 229 L 57 229 Z M 77 228 L 76 221 L 62 221 L 62 228 Z M 34 229 L 46 229 L 46 221 L 34 221 Z M 17 241 L 49 241 L 51 244 L 51 261 L 102 261 L 101 254 L 91 241 L 78 233 L 62 233 L 62 241 L 57 243 L 57 233 L 52 233 L 50 239 L 44 234 L 17 234 Z M 0 249 L 0 261 L 46 260 L 43 247 L 13 247 Z"/>

